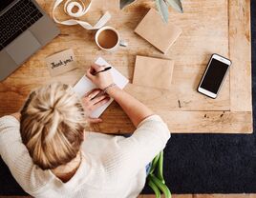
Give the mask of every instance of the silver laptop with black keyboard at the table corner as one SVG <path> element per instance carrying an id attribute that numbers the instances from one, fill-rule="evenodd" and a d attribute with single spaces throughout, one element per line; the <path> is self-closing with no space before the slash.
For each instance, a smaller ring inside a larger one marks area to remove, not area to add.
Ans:
<path id="1" fill-rule="evenodd" d="M 53 20 L 34 0 L 1 0 L 0 81 L 59 33 Z"/>

